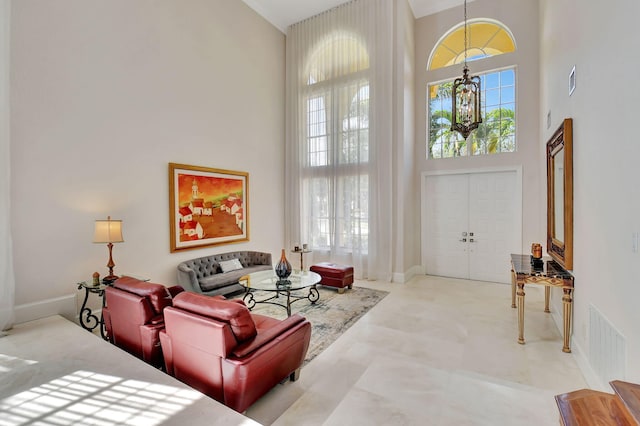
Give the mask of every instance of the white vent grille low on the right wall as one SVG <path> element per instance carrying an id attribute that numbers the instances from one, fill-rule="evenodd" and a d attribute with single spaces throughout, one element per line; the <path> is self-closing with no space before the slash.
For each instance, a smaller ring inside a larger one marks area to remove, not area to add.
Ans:
<path id="1" fill-rule="evenodd" d="M 627 340 L 593 305 L 589 305 L 589 360 L 603 384 L 625 380 Z"/>

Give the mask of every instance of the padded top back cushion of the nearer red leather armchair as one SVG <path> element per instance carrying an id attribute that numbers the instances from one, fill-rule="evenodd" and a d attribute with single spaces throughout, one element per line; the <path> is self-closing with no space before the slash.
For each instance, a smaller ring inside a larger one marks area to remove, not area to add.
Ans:
<path id="1" fill-rule="evenodd" d="M 257 334 L 251 312 L 244 304 L 203 294 L 183 292 L 176 296 L 173 306 L 228 323 L 238 343 L 247 341 Z"/>

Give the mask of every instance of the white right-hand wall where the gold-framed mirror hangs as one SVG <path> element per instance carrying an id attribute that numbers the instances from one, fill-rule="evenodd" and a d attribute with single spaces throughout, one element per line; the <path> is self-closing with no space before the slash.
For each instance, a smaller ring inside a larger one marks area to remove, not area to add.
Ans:
<path id="1" fill-rule="evenodd" d="M 640 254 L 632 252 L 632 233 L 640 231 L 640 89 L 630 79 L 640 69 L 634 35 L 640 2 L 543 0 L 540 10 L 542 139 L 563 118 L 574 120 L 573 346 L 590 362 L 588 309 L 593 304 L 626 337 L 626 380 L 637 383 Z M 576 90 L 569 96 L 574 65 Z"/>

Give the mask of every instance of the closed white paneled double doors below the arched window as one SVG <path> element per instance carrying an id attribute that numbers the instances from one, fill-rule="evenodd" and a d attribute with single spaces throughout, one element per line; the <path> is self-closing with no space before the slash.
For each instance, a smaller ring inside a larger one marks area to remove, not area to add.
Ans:
<path id="1" fill-rule="evenodd" d="M 510 253 L 521 247 L 516 171 L 426 176 L 426 273 L 509 283 Z"/>

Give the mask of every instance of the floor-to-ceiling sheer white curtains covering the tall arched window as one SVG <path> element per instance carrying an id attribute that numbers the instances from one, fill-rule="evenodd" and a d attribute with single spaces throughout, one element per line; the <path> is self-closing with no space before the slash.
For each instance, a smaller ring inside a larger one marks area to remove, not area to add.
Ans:
<path id="1" fill-rule="evenodd" d="M 286 43 L 285 240 L 386 281 L 394 3 L 343 3 L 290 26 Z"/>

